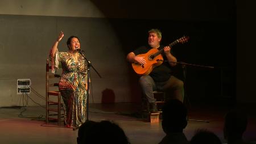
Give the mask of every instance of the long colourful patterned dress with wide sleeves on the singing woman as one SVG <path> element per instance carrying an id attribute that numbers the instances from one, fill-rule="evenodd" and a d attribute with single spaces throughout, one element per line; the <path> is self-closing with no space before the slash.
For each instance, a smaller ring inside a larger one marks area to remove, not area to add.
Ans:
<path id="1" fill-rule="evenodd" d="M 64 101 L 64 121 L 67 127 L 80 126 L 86 120 L 86 98 L 87 91 L 87 69 L 84 57 L 77 57 L 77 62 L 69 52 L 56 51 L 55 56 L 51 56 L 52 73 L 59 68 L 61 63 L 63 73 L 59 82 L 59 91 Z"/>

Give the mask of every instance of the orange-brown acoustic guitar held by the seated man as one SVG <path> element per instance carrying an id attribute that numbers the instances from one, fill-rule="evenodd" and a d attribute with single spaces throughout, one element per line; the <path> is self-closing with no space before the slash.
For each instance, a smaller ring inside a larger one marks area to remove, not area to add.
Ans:
<path id="1" fill-rule="evenodd" d="M 177 43 L 185 43 L 189 39 L 188 36 L 183 36 L 180 39 L 175 40 L 169 46 L 173 46 Z M 164 53 L 164 49 L 152 48 L 147 53 L 138 54 L 139 57 L 145 57 L 146 64 L 141 65 L 140 63 L 132 63 L 131 66 L 133 70 L 138 75 L 148 75 L 154 69 L 154 67 L 159 66 L 163 63 L 163 56 L 161 53 Z"/>

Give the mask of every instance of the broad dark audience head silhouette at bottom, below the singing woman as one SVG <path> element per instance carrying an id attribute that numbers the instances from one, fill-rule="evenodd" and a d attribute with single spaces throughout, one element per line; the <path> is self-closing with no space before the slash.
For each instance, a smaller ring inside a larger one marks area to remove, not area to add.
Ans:
<path id="1" fill-rule="evenodd" d="M 80 141 L 81 143 L 129 143 L 125 132 L 114 122 L 101 121 L 88 125 L 80 128 L 85 129 L 81 131 L 84 132 L 84 137 Z"/>

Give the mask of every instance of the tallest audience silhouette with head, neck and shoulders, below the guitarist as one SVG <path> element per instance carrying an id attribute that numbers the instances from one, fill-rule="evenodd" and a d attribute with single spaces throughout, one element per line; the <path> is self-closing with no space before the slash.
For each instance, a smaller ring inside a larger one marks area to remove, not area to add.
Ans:
<path id="1" fill-rule="evenodd" d="M 166 136 L 160 144 L 188 143 L 183 133 L 183 129 L 187 126 L 187 108 L 180 100 L 171 99 L 163 105 L 162 128 Z"/>

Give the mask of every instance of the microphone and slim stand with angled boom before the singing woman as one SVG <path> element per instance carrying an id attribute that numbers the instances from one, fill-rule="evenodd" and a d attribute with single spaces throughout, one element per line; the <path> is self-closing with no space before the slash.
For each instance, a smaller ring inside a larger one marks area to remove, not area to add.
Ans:
<path id="1" fill-rule="evenodd" d="M 98 71 L 93 67 L 92 63 L 84 56 L 84 50 L 77 49 L 77 51 L 84 57 L 87 62 L 87 98 L 86 98 L 86 121 L 89 121 L 89 79 L 90 79 L 90 67 L 97 73 L 98 77 L 102 78 Z"/>

